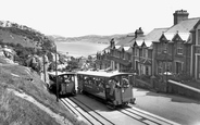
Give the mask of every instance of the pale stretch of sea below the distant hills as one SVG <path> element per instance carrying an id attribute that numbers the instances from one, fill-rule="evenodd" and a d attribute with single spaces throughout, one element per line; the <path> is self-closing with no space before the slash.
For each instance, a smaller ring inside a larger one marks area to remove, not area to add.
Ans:
<path id="1" fill-rule="evenodd" d="M 99 51 L 102 51 L 109 45 L 104 43 L 93 43 L 93 42 L 80 42 L 80 41 L 59 41 L 55 42 L 57 50 L 74 58 L 78 57 L 88 57 L 91 54 L 96 54 Z"/>

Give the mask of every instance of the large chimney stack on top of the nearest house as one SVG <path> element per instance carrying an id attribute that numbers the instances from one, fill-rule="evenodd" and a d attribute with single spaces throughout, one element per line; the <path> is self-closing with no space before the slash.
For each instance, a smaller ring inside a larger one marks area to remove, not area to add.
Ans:
<path id="1" fill-rule="evenodd" d="M 186 10 L 177 10 L 173 15 L 174 15 L 174 25 L 176 25 L 179 22 L 187 20 L 189 13 Z"/>

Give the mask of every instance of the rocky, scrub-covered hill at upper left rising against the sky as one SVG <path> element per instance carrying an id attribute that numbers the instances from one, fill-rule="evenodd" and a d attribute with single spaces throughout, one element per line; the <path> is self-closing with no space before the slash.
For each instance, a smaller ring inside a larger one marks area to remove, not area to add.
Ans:
<path id="1" fill-rule="evenodd" d="M 0 40 L 32 48 L 41 48 L 43 45 L 54 47 L 54 42 L 40 32 L 9 21 L 0 21 Z"/>

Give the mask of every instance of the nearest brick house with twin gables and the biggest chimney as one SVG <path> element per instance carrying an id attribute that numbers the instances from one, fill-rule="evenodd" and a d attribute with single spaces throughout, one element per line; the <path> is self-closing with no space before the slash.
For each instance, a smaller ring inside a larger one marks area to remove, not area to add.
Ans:
<path id="1" fill-rule="evenodd" d="M 174 25 L 153 41 L 153 75 L 171 72 L 173 74 L 198 74 L 198 58 L 195 43 L 195 30 L 198 30 L 200 18 L 188 18 L 187 11 L 174 13 Z M 197 70 L 196 70 L 197 68 Z"/>

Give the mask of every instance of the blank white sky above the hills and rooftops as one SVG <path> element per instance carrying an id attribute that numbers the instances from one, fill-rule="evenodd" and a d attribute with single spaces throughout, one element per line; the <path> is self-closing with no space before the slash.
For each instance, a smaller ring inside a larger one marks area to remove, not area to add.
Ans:
<path id="1" fill-rule="evenodd" d="M 145 34 L 173 25 L 173 13 L 200 17 L 199 0 L 0 0 L 0 21 L 26 25 L 45 35 Z"/>

